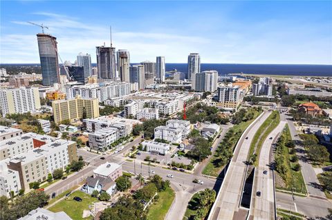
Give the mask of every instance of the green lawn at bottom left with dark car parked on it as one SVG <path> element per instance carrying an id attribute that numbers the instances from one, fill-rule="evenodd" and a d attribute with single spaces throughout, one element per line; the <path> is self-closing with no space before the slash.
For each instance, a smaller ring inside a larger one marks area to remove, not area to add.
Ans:
<path id="1" fill-rule="evenodd" d="M 77 202 L 73 200 L 74 197 L 80 197 L 83 201 Z M 71 219 L 78 220 L 83 219 L 83 210 L 89 210 L 89 205 L 96 201 L 98 201 L 98 199 L 91 197 L 89 194 L 81 191 L 75 191 L 66 200 L 59 201 L 54 206 L 48 208 L 48 210 L 52 212 L 64 211 L 69 217 L 71 217 Z M 92 219 L 92 217 L 86 219 Z"/>

